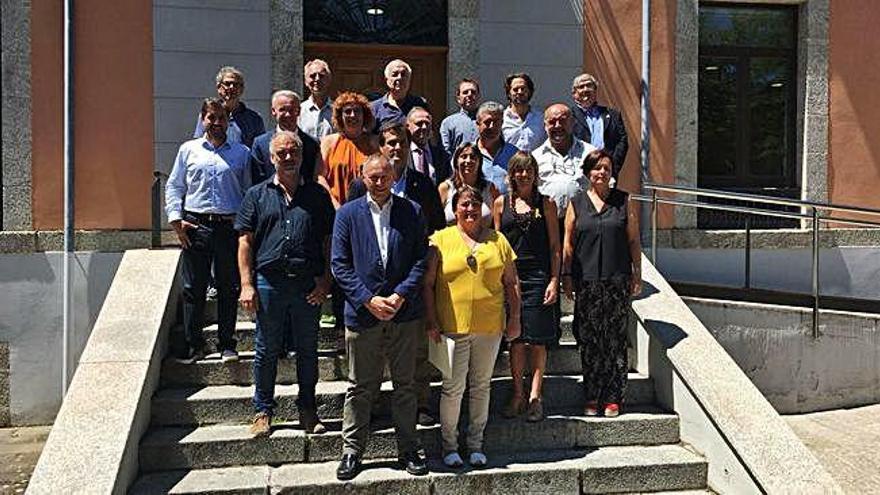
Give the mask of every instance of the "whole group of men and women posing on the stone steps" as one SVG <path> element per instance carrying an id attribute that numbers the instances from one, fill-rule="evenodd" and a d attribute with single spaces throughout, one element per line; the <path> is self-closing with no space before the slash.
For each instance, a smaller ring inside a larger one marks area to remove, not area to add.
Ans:
<path id="1" fill-rule="evenodd" d="M 304 76 L 309 98 L 276 91 L 267 132 L 241 102 L 244 75 L 221 68 L 218 97 L 203 101 L 194 139 L 180 147 L 165 198 L 183 247 L 186 346 L 178 359 L 205 356 L 213 280 L 223 361 L 238 359 L 236 304 L 256 313 L 252 434 L 271 432 L 278 360 L 288 351 L 296 354 L 300 424 L 323 433 L 317 336 L 330 297 L 350 382 L 338 478 L 361 469 L 386 363 L 401 465 L 427 473 L 416 425 L 435 421 L 429 355 L 442 372 L 443 462 L 462 466 L 466 453 L 479 467 L 488 462 L 483 431 L 502 341 L 513 377 L 502 414 L 544 418 L 543 376 L 564 293 L 575 301 L 584 413 L 619 414 L 641 247 L 637 212 L 615 187 L 625 126 L 618 111 L 597 104 L 596 78 L 578 75 L 572 101 L 543 113 L 530 103 L 528 74 L 505 79 L 506 106 L 481 102 L 479 83 L 463 79 L 460 110 L 435 140 L 429 103 L 410 92 L 403 60 L 385 67 L 387 92 L 374 101 L 348 91 L 331 98 L 323 60 L 308 62 Z"/>

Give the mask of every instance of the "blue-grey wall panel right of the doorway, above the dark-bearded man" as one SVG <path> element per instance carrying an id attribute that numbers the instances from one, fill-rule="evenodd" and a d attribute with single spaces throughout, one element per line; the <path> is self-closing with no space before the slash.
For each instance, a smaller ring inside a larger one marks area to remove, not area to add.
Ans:
<path id="1" fill-rule="evenodd" d="M 583 64 L 583 5 L 578 0 L 482 0 L 478 77 L 484 100 L 507 104 L 504 78 L 527 72 L 532 104 L 543 111 L 571 94 Z M 453 84 L 453 81 L 449 81 Z"/>

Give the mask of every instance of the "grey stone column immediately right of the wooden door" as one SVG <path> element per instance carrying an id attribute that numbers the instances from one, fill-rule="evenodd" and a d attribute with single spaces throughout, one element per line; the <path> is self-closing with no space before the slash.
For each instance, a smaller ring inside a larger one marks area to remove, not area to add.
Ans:
<path id="1" fill-rule="evenodd" d="M 462 78 L 476 78 L 480 68 L 480 0 L 450 0 L 449 52 L 446 55 L 446 108 L 458 110 L 455 91 Z"/>

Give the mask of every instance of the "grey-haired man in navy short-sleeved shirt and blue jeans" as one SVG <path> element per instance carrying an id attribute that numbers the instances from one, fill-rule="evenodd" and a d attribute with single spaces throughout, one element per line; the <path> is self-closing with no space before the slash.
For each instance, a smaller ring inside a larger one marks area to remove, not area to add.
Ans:
<path id="1" fill-rule="evenodd" d="M 299 420 L 307 433 L 318 421 L 318 327 L 330 291 L 330 232 L 334 209 L 327 191 L 300 176 L 302 141 L 290 131 L 269 145 L 275 176 L 245 194 L 235 219 L 241 305 L 257 313 L 254 416 L 251 433 L 267 436 L 275 408 L 275 377 L 284 336 L 296 332 Z"/>

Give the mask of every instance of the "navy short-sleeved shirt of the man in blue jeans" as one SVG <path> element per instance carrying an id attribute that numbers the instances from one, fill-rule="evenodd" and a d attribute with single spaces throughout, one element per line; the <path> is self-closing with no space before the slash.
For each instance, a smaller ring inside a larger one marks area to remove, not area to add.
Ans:
<path id="1" fill-rule="evenodd" d="M 323 243 L 334 216 L 330 195 L 317 183 L 300 184 L 288 203 L 284 189 L 268 180 L 245 194 L 235 229 L 254 234 L 258 272 L 293 268 L 317 276 L 326 266 Z"/>

